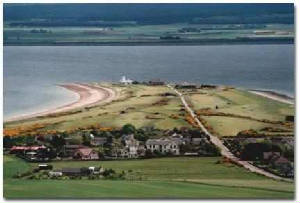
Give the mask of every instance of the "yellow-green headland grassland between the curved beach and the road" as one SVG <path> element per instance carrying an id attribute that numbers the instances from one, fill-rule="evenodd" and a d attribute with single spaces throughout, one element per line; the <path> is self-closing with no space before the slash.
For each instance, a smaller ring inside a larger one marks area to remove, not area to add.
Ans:
<path id="1" fill-rule="evenodd" d="M 78 127 L 99 124 L 103 127 L 122 127 L 132 123 L 136 127 L 154 126 L 160 129 L 189 126 L 183 117 L 170 118 L 179 114 L 180 99 L 164 97 L 160 94 L 170 92 L 166 86 L 131 85 L 122 87 L 108 85 L 118 92 L 118 98 L 107 105 L 99 105 L 92 109 L 82 108 L 81 112 L 56 117 L 35 118 L 27 121 L 5 124 L 5 128 L 47 124 L 47 130 L 71 130 Z M 164 105 L 155 104 L 162 99 L 168 101 Z M 123 113 L 121 113 L 124 111 Z"/>

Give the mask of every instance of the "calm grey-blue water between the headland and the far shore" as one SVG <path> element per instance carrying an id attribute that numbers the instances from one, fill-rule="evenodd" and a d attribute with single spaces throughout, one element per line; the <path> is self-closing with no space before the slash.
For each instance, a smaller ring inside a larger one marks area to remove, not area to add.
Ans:
<path id="1" fill-rule="evenodd" d="M 160 78 L 294 95 L 293 45 L 4 47 L 4 119 L 77 96 L 64 82 Z"/>

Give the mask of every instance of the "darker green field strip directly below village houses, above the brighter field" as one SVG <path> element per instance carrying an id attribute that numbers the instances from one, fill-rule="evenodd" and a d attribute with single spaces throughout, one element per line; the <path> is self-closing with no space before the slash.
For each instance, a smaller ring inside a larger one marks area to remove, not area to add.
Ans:
<path id="1" fill-rule="evenodd" d="M 124 161 L 69 161 L 52 162 L 54 168 L 103 166 L 117 172 L 132 170 L 132 175 L 145 180 L 176 180 L 176 179 L 245 179 L 260 180 L 263 177 L 245 171 L 232 164 L 217 164 L 219 157 L 179 157 L 157 158 Z M 36 166 L 37 164 L 32 164 Z"/>

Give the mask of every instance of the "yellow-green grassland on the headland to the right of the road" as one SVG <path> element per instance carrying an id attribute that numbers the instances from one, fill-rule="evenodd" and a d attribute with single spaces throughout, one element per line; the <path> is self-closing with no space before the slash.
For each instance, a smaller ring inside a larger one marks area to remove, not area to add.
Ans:
<path id="1" fill-rule="evenodd" d="M 186 96 L 194 110 L 211 108 L 217 112 L 249 116 L 255 119 L 267 119 L 270 121 L 284 121 L 286 115 L 294 115 L 294 105 L 273 101 L 244 90 L 199 90 L 193 94 L 186 93 Z M 218 106 L 218 109 L 216 109 L 216 106 Z M 259 131 L 264 127 L 286 129 L 282 125 L 243 118 L 224 116 L 202 116 L 202 118 L 221 136 L 234 136 L 242 130 L 249 129 Z"/>

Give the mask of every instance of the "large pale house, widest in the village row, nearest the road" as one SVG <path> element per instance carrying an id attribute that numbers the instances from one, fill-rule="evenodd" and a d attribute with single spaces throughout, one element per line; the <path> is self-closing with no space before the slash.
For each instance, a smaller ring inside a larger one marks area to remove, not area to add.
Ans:
<path id="1" fill-rule="evenodd" d="M 149 139 L 146 141 L 147 150 L 151 152 L 158 151 L 162 154 L 172 153 L 179 155 L 179 145 L 178 141 L 170 138 Z"/>

